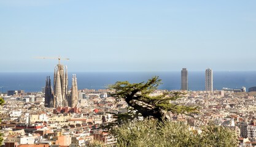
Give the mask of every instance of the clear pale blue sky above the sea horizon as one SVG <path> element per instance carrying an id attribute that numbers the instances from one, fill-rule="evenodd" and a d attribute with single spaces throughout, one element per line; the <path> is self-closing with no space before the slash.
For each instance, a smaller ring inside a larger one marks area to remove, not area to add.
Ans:
<path id="1" fill-rule="evenodd" d="M 1 72 L 256 70 L 256 1 L 0 0 Z"/>

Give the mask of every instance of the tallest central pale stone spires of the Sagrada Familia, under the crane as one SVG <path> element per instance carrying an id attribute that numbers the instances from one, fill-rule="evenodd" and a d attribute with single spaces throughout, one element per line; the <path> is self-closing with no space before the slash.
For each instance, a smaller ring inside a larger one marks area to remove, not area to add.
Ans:
<path id="1" fill-rule="evenodd" d="M 68 106 L 68 69 L 60 63 L 55 66 L 54 70 L 53 92 L 55 108 Z"/>

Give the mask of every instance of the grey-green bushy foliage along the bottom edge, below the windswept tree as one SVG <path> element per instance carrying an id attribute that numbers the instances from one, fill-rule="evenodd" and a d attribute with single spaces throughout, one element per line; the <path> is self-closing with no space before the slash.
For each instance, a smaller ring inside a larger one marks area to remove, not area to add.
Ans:
<path id="1" fill-rule="evenodd" d="M 158 123 L 157 119 L 126 122 L 111 130 L 117 146 L 227 146 L 238 145 L 235 132 L 220 126 L 205 126 L 202 133 L 181 122 Z"/>

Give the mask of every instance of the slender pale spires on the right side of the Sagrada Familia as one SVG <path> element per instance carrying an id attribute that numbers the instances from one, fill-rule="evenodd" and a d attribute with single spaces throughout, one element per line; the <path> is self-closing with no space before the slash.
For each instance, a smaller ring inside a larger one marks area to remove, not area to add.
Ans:
<path id="1" fill-rule="evenodd" d="M 78 105 L 78 91 L 77 91 L 77 77 L 73 75 L 72 77 L 72 88 L 71 88 L 71 100 L 69 107 L 77 107 Z"/>

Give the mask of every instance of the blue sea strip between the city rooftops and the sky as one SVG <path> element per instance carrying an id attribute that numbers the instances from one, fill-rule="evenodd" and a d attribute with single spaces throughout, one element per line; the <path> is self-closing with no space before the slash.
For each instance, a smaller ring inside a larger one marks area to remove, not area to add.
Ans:
<path id="1" fill-rule="evenodd" d="M 188 71 L 188 89 L 204 90 L 204 71 Z M 72 74 L 76 74 L 78 89 L 106 89 L 116 81 L 140 83 L 158 76 L 161 85 L 158 89 L 180 89 L 180 71 L 173 72 L 69 72 L 69 88 Z M 24 90 L 25 92 L 40 92 L 45 86 L 46 77 L 50 76 L 53 85 L 53 72 L 0 72 L 0 92 Z M 256 71 L 215 71 L 213 72 L 214 90 L 222 88 L 246 89 L 256 86 Z"/>

